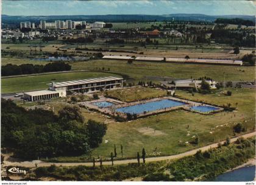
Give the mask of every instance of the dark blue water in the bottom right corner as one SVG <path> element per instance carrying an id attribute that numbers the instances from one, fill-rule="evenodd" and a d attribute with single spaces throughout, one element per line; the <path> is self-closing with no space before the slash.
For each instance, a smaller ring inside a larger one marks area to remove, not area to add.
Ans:
<path id="1" fill-rule="evenodd" d="M 255 166 L 248 166 L 219 175 L 213 181 L 253 181 L 254 177 Z"/>

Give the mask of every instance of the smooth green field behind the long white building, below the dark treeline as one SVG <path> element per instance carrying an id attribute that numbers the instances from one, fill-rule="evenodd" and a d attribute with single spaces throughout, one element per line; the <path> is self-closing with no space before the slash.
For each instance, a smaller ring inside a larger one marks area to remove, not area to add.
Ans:
<path id="1" fill-rule="evenodd" d="M 104 72 L 68 72 L 1 79 L 1 92 L 11 93 L 47 89 L 48 83 L 52 81 L 61 82 L 78 79 L 89 79 L 95 77 L 106 77 L 110 75 L 116 76 L 114 74 L 107 74 Z"/>

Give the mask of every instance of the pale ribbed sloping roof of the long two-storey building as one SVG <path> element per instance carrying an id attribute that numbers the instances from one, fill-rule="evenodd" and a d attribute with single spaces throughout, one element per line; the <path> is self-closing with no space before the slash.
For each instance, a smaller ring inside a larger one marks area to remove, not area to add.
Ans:
<path id="1" fill-rule="evenodd" d="M 97 83 L 97 82 L 105 82 L 105 81 L 111 81 L 111 80 L 123 80 L 123 78 L 119 77 L 102 77 L 102 78 L 96 78 L 96 79 L 84 79 L 84 80 L 72 80 L 72 81 L 66 81 L 66 82 L 56 82 L 54 83 L 55 88 L 63 87 L 63 86 L 69 86 L 69 85 L 79 85 L 79 84 L 86 84 L 86 83 Z"/>

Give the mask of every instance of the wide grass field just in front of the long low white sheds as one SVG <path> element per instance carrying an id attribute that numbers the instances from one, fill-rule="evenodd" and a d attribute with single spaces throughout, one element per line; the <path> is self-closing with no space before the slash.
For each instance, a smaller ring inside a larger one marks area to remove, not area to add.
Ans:
<path id="1" fill-rule="evenodd" d="M 134 61 L 132 65 L 127 65 L 127 61 L 121 60 L 93 60 L 87 63 L 77 62 L 72 64 L 72 69 L 96 69 L 110 68 L 111 72 L 120 72 L 129 75 L 136 82 L 159 81 L 165 77 L 176 79 L 190 79 L 199 77 L 211 77 L 213 80 L 222 82 L 223 72 L 226 73 L 226 80 L 254 80 L 255 66 L 219 66 L 219 65 L 194 65 L 194 64 L 174 64 Z M 244 72 L 243 72 L 244 71 Z M 162 79 L 161 79 L 162 78 Z"/>

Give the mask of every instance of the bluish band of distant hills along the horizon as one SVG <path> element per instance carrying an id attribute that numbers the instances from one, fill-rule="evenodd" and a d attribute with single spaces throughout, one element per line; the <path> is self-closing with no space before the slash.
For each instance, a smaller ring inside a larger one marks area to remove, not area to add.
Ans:
<path id="1" fill-rule="evenodd" d="M 20 21 L 34 21 L 38 22 L 40 19 L 45 20 L 81 20 L 85 19 L 88 22 L 92 21 L 106 21 L 106 22 L 126 22 L 126 21 L 169 21 L 172 19 L 183 20 L 183 21 L 209 21 L 213 22 L 217 18 L 240 18 L 250 21 L 254 21 L 255 16 L 250 15 L 204 15 L 204 14 L 185 14 L 185 13 L 176 13 L 168 15 L 58 15 L 58 16 L 9 16 L 2 15 L 2 23 L 18 23 Z"/>

